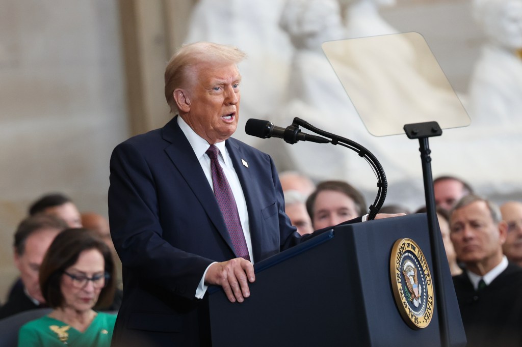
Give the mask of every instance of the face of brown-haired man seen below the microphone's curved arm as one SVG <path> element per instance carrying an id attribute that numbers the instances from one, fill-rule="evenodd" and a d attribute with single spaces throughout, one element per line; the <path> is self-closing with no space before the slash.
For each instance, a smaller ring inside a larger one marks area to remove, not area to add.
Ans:
<path id="1" fill-rule="evenodd" d="M 317 194 L 313 212 L 314 229 L 334 226 L 359 216 L 353 199 L 333 190 L 323 190 Z"/>

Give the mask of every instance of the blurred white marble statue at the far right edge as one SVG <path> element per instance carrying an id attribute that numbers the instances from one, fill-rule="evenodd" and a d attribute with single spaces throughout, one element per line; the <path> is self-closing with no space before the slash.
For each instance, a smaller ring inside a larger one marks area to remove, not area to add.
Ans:
<path id="1" fill-rule="evenodd" d="M 522 169 L 522 63 L 516 55 L 522 0 L 473 0 L 473 15 L 487 42 L 470 81 L 471 125 L 446 131 L 434 161 L 458 168 L 484 196 L 516 196 Z"/>

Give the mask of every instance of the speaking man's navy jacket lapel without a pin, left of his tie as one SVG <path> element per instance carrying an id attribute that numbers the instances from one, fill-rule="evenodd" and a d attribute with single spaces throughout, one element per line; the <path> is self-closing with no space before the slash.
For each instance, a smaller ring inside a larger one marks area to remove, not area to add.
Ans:
<path id="1" fill-rule="evenodd" d="M 167 153 L 172 164 L 194 192 L 194 195 L 196 195 L 198 201 L 207 212 L 213 225 L 233 252 L 234 247 L 230 240 L 223 216 L 221 215 L 221 210 L 216 202 L 216 197 L 208 184 L 205 173 L 201 170 L 199 160 L 196 158 L 190 143 L 183 131 L 181 131 L 179 125 L 177 125 L 176 118 L 177 117 L 174 117 L 162 130 L 163 139 L 171 143 L 171 145 L 165 148 L 165 153 Z"/>

